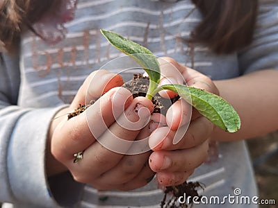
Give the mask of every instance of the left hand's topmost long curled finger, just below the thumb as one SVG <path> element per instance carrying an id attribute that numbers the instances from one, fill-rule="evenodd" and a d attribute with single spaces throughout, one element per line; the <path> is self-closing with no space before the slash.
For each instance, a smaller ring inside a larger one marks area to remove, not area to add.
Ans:
<path id="1" fill-rule="evenodd" d="M 113 108 L 117 114 L 124 112 L 132 102 L 132 95 L 127 89 L 117 87 L 101 96 L 85 112 L 64 121 L 54 132 L 56 139 L 51 141 L 51 152 L 60 162 L 69 162 L 74 153 L 85 150 L 95 141 L 95 135 L 101 135 L 115 121 Z M 92 135 L 90 126 L 95 127 Z"/>

